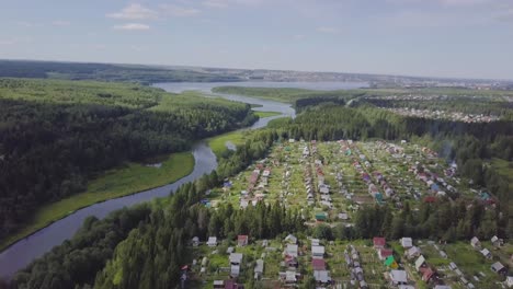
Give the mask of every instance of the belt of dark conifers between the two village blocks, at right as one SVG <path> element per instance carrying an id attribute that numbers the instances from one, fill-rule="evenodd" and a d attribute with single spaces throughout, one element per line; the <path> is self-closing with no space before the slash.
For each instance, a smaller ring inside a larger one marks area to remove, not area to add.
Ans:
<path id="1" fill-rule="evenodd" d="M 391 240 L 402 236 L 447 242 L 468 241 L 472 236 L 490 240 L 493 235 L 513 238 L 513 223 L 508 224 L 500 209 L 487 210 L 479 201 L 468 204 L 458 199 L 422 203 L 418 211 L 411 210 L 408 203 L 400 211 L 391 206 L 364 207 L 356 212 L 353 233 L 353 238 L 364 239 L 384 235 Z"/>

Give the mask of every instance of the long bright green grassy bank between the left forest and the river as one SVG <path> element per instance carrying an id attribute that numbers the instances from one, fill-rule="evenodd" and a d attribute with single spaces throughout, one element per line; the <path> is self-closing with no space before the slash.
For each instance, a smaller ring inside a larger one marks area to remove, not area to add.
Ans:
<path id="1" fill-rule="evenodd" d="M 162 164 L 160 167 L 129 163 L 110 170 L 92 180 L 87 192 L 42 206 L 22 229 L 0 242 L 0 251 L 80 208 L 173 183 L 189 175 L 194 169 L 194 157 L 191 152 L 173 153 L 159 161 Z"/>

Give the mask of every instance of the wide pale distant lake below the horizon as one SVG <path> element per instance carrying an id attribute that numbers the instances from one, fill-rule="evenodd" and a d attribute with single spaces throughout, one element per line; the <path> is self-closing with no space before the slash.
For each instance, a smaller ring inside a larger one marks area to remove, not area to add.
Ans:
<path id="1" fill-rule="evenodd" d="M 248 86 L 248 88 L 292 88 L 305 90 L 353 90 L 368 88 L 367 82 L 276 82 L 276 81 L 239 81 L 239 82 L 168 82 L 156 83 L 157 88 L 164 88 L 169 92 L 180 93 L 187 90 L 210 93 L 217 86 Z"/>

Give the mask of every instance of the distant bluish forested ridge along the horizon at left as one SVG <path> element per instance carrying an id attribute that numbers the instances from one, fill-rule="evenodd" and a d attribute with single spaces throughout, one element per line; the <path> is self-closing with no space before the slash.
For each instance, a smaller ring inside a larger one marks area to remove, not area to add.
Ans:
<path id="1" fill-rule="evenodd" d="M 0 78 L 134 81 L 139 83 L 240 81 L 240 79 L 231 76 L 200 72 L 191 69 L 30 60 L 0 60 Z"/>

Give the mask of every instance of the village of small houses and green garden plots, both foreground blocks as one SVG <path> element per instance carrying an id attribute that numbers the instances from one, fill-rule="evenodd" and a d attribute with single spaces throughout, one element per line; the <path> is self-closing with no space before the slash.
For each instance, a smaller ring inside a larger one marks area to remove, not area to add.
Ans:
<path id="1" fill-rule="evenodd" d="M 491 194 L 456 176 L 457 166 L 429 148 L 386 141 L 290 139 L 250 165 L 202 204 L 244 209 L 280 201 L 308 227 L 354 226 L 363 206 L 412 209 L 422 203 L 476 199 L 493 209 Z M 202 288 L 513 288 L 513 245 L 493 236 L 468 242 L 413 240 L 328 241 L 304 233 L 273 240 L 237 235 L 191 240 L 194 256 L 183 278 Z M 260 287 L 256 287 L 256 284 Z M 312 285 L 315 284 L 315 285 Z"/>

